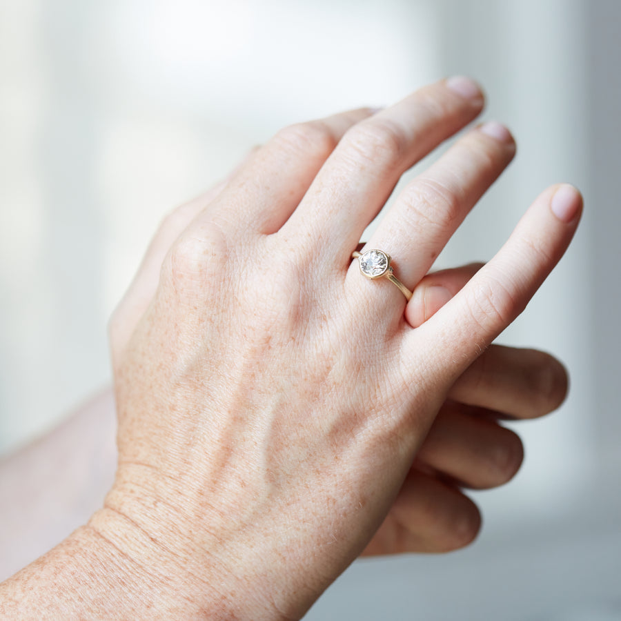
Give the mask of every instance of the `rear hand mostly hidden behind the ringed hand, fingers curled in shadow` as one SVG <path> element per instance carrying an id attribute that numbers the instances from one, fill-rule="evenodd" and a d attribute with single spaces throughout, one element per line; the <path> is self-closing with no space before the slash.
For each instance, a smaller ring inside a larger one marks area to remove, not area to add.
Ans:
<path id="1" fill-rule="evenodd" d="M 123 317 L 111 331 L 116 351 L 125 348 L 155 295 L 170 246 L 226 188 L 228 179 L 172 210 L 162 221 L 115 311 L 115 317 Z M 406 307 L 411 326 L 430 319 L 481 267 L 470 264 L 424 277 Z M 551 355 L 492 345 L 455 382 L 393 508 L 363 555 L 449 552 L 469 544 L 480 530 L 481 517 L 462 488 L 500 486 L 522 464 L 520 437 L 498 420 L 530 419 L 553 411 L 564 400 L 567 383 L 562 364 Z"/>

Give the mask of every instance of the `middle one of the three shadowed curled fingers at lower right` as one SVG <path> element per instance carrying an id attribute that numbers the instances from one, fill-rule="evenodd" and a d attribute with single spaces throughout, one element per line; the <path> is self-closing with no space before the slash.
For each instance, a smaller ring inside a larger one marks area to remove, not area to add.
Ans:
<path id="1" fill-rule="evenodd" d="M 461 404 L 445 404 L 417 453 L 417 459 L 460 485 L 489 489 L 517 473 L 524 459 L 513 431 L 473 415 Z"/>

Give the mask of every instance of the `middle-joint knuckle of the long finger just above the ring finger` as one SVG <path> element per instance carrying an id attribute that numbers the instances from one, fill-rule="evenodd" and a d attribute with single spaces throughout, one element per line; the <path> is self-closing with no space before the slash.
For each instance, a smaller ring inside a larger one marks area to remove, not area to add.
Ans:
<path id="1" fill-rule="evenodd" d="M 346 148 L 363 164 L 395 166 L 406 155 L 408 139 L 392 121 L 373 118 L 347 132 Z"/>

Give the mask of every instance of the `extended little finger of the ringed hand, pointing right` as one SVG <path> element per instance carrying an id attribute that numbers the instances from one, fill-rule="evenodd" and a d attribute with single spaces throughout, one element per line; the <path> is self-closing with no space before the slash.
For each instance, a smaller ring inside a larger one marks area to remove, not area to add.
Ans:
<path id="1" fill-rule="evenodd" d="M 404 333 L 404 368 L 426 351 L 426 373 L 451 386 L 519 315 L 558 263 L 575 233 L 582 197 L 568 185 L 542 193 L 495 257 L 417 330 Z"/>

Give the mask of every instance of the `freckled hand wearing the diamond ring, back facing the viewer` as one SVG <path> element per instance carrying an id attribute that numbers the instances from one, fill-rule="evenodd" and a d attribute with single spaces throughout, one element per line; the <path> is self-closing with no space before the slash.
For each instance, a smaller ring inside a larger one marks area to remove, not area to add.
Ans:
<path id="1" fill-rule="evenodd" d="M 438 83 L 289 128 L 195 217 L 135 330 L 117 315 L 132 333 L 113 345 L 119 471 L 93 529 L 132 558 L 157 550 L 201 606 L 252 618 L 301 615 L 364 549 L 451 387 L 577 225 L 575 190 L 547 190 L 416 329 L 399 290 L 359 274 L 351 250 L 399 176 L 481 106 Z M 508 133 L 470 132 L 369 247 L 415 286 L 512 155 Z"/>

